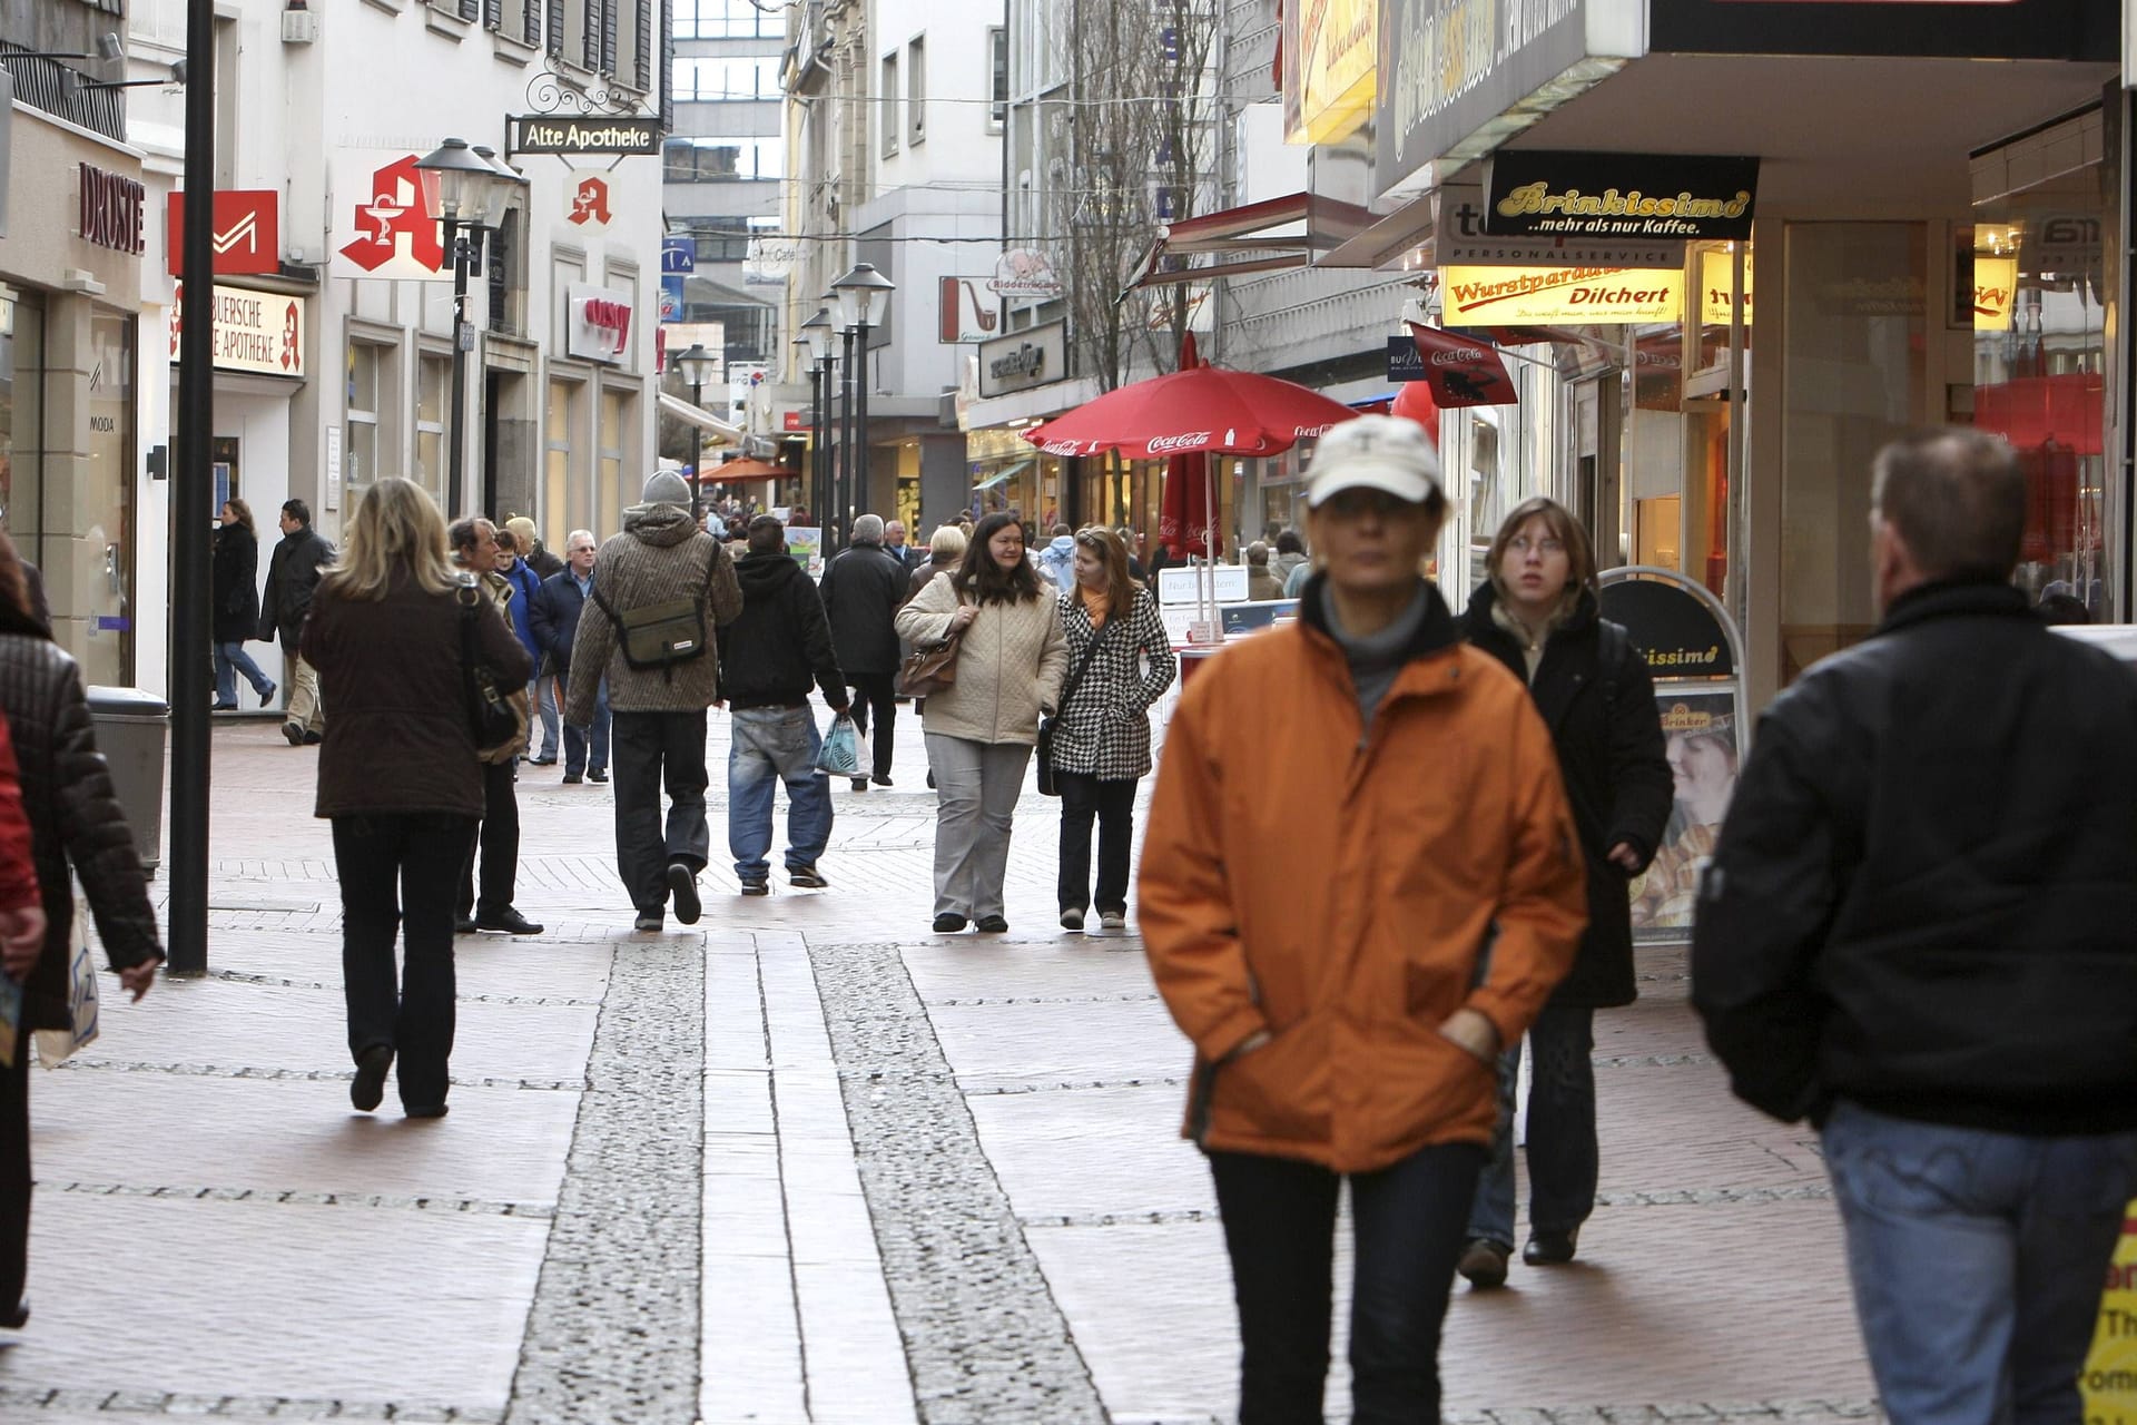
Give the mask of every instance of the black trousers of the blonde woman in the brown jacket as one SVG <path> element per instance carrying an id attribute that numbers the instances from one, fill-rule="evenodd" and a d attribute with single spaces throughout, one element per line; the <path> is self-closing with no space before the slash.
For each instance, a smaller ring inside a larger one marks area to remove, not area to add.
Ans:
<path id="1" fill-rule="evenodd" d="M 511 771 L 506 767 L 506 771 Z M 391 1045 L 410 1109 L 444 1102 L 453 1058 L 453 889 L 474 823 L 408 812 L 336 816 L 348 1053 Z M 395 983 L 393 934 L 406 970 Z"/>

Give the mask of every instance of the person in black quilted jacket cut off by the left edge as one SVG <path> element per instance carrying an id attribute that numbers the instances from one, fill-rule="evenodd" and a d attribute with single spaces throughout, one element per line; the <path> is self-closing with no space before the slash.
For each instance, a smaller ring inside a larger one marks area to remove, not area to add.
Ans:
<path id="1" fill-rule="evenodd" d="M 75 927 L 68 870 L 81 880 L 105 955 L 135 1000 L 156 983 L 162 942 L 141 855 L 111 790 L 111 769 L 96 752 L 81 669 L 30 613 L 21 562 L 6 534 L 0 534 L 0 711 L 15 771 L 6 778 L 0 767 L 0 782 L 19 782 L 36 867 L 36 897 L 26 904 L 13 855 L 0 855 L 0 867 L 9 867 L 0 874 L 0 957 L 9 978 L 24 987 L 21 1030 L 66 1030 L 73 1025 Z M 6 820 L 0 810 L 0 844 L 19 840 L 19 831 L 4 831 Z M 30 1318 L 21 1295 L 28 1250 L 30 1045 L 19 1038 L 15 1064 L 0 1068 L 0 1327 L 15 1329 Z"/>

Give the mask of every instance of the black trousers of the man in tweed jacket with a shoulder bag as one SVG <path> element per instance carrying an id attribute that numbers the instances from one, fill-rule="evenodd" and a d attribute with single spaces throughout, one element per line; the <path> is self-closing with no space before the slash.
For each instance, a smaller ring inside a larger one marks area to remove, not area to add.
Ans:
<path id="1" fill-rule="evenodd" d="M 667 867 L 705 870 L 705 714 L 613 714 L 609 754 L 615 773 L 615 870 L 639 914 L 667 908 Z M 667 833 L 660 786 L 667 784 Z"/>

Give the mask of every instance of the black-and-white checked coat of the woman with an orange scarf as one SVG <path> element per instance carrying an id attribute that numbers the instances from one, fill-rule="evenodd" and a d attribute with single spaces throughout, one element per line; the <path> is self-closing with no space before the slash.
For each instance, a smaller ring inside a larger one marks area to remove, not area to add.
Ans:
<path id="1" fill-rule="evenodd" d="M 1060 596 L 1060 613 L 1068 643 L 1066 686 L 1101 630 L 1090 626 L 1075 588 Z M 1150 705 L 1173 686 L 1180 660 L 1158 617 L 1158 596 L 1148 588 L 1135 592 L 1126 613 L 1107 615 L 1103 632 L 1105 641 L 1054 720 L 1054 769 L 1130 782 L 1150 771 Z"/>

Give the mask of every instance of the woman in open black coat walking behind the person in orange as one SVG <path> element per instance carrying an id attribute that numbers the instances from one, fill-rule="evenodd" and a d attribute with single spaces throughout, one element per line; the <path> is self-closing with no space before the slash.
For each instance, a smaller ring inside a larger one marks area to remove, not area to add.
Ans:
<path id="1" fill-rule="evenodd" d="M 1573 972 L 1528 1030 L 1530 1267 L 1569 1263 L 1596 1201 L 1594 1013 L 1631 1004 L 1631 880 L 1663 842 L 1671 778 L 1648 660 L 1596 605 L 1588 530 L 1554 500 L 1517 506 L 1492 541 L 1489 581 L 1470 598 L 1462 637 L 1498 658 L 1551 729 L 1588 867 L 1588 934 Z M 1507 1280 L 1513 1256 L 1513 1102 L 1522 1047 L 1498 1064 L 1498 1128 L 1477 1184 L 1460 1271 L 1472 1286 Z"/>

